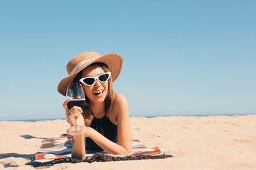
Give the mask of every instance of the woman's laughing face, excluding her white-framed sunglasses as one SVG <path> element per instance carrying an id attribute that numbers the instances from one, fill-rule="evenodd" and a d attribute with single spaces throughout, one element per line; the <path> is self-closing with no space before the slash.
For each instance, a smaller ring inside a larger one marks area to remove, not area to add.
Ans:
<path id="1" fill-rule="evenodd" d="M 99 74 L 105 73 L 105 71 L 100 66 L 88 66 L 82 72 L 82 78 L 88 76 L 99 76 Z M 108 94 L 108 81 L 101 83 L 99 80 L 96 80 L 95 84 L 92 86 L 87 86 L 82 83 L 84 94 L 88 99 L 93 103 L 102 103 L 104 102 Z"/>

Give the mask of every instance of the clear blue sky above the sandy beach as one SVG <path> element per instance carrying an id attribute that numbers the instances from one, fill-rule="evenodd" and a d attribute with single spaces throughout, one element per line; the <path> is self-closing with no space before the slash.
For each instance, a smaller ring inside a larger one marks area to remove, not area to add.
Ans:
<path id="1" fill-rule="evenodd" d="M 68 60 L 115 52 L 131 116 L 256 113 L 256 1 L 0 1 L 0 120 L 65 118 Z"/>

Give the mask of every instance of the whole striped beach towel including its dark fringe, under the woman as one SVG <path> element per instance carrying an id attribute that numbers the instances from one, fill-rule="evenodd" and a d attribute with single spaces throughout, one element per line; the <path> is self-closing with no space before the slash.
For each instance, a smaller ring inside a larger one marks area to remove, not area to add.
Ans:
<path id="1" fill-rule="evenodd" d="M 140 160 L 140 159 L 164 159 L 173 157 L 162 153 L 156 146 L 154 148 L 147 148 L 138 139 L 132 139 L 131 141 L 131 154 L 127 156 L 113 155 L 102 152 L 95 152 L 93 150 L 86 149 L 86 159 L 78 160 L 72 159 L 72 142 L 67 142 L 68 134 L 61 134 L 54 138 L 47 138 L 42 141 L 42 145 L 37 153 L 35 153 L 35 160 L 27 163 L 34 167 L 38 166 L 52 166 L 58 163 L 70 162 L 108 162 L 108 161 L 120 161 L 120 160 Z"/>

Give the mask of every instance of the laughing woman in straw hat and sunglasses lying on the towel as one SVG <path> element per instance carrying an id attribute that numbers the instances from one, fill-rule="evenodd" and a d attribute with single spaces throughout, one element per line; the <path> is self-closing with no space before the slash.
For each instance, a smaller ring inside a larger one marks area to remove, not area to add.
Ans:
<path id="1" fill-rule="evenodd" d="M 122 69 L 122 57 L 116 53 L 99 55 L 85 52 L 67 64 L 69 76 L 60 81 L 58 92 L 65 96 L 68 84 L 81 83 L 86 103 L 83 108 L 63 103 L 70 125 L 81 125 L 85 132 L 72 138 L 72 157 L 85 159 L 85 150 L 105 150 L 111 154 L 131 153 L 131 130 L 127 100 L 113 92 L 113 81 Z"/>

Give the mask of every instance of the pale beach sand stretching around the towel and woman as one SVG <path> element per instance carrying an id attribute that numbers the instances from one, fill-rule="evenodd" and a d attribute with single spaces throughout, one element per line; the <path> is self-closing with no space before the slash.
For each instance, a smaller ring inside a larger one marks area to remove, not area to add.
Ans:
<path id="1" fill-rule="evenodd" d="M 256 169 L 256 115 L 131 117 L 132 138 L 172 158 L 56 164 L 47 169 Z M 65 133 L 65 120 L 0 122 L 0 169 L 25 166 L 43 138 Z M 46 167 L 44 167 L 46 168 Z"/>

